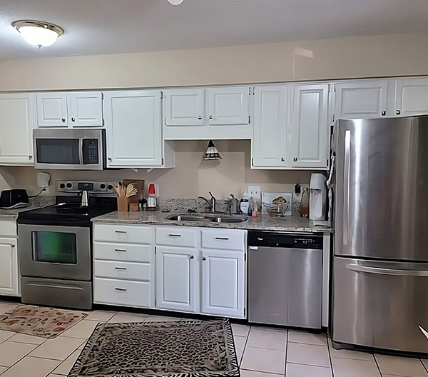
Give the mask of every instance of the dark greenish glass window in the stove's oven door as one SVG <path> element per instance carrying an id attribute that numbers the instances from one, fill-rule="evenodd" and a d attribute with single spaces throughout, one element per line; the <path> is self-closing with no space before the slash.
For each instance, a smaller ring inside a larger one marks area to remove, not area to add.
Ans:
<path id="1" fill-rule="evenodd" d="M 77 243 L 75 233 L 56 231 L 34 231 L 33 259 L 48 263 L 77 263 Z"/>

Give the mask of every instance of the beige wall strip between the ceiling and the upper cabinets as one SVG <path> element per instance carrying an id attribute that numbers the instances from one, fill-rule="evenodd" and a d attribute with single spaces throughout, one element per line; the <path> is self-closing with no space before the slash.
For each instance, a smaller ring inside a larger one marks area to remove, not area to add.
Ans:
<path id="1" fill-rule="evenodd" d="M 428 33 L 0 61 L 0 91 L 428 74 Z"/>

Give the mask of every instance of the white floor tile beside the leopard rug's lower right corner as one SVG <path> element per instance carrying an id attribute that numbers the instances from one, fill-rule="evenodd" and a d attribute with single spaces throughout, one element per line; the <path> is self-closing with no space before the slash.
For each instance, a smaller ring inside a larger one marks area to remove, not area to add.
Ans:
<path id="1" fill-rule="evenodd" d="M 285 352 L 246 346 L 241 368 L 267 373 L 285 373 Z"/>

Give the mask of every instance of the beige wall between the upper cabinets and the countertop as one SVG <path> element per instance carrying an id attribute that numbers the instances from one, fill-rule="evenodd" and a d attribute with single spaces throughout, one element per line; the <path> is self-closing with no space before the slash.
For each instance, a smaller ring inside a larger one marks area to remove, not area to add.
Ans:
<path id="1" fill-rule="evenodd" d="M 250 169 L 250 141 L 216 141 L 223 157 L 221 161 L 202 161 L 206 141 L 178 141 L 176 143 L 175 169 L 154 169 L 147 173 L 140 169 L 116 171 L 49 171 L 51 193 L 57 179 L 119 180 L 145 179 L 146 183 L 159 185 L 163 198 L 196 198 L 208 196 L 213 191 L 217 198 L 227 198 L 230 193 L 240 196 L 248 185 L 260 185 L 263 191 L 291 192 L 293 184 L 308 184 L 309 171 L 267 171 Z M 30 194 L 38 191 L 36 170 L 24 167 L 1 167 L 8 183 L 15 188 L 27 188 Z M 147 186 L 147 185 L 146 185 Z"/>

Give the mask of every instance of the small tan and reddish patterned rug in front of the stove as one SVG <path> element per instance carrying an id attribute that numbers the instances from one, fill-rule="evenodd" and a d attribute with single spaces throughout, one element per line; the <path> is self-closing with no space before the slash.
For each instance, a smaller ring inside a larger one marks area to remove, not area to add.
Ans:
<path id="1" fill-rule="evenodd" d="M 0 314 L 0 329 L 43 338 L 55 338 L 88 316 L 78 311 L 19 305 Z"/>

